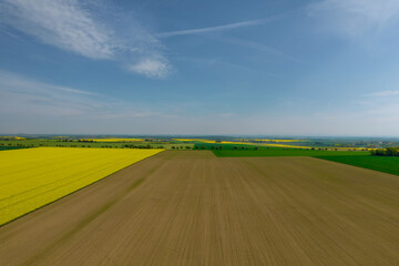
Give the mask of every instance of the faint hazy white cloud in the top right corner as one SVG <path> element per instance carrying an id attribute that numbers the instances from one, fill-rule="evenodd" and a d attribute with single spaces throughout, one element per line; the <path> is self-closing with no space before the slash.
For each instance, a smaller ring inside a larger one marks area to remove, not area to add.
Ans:
<path id="1" fill-rule="evenodd" d="M 309 6 L 309 16 L 328 28 L 356 38 L 380 31 L 398 19 L 398 0 L 324 0 Z"/>

